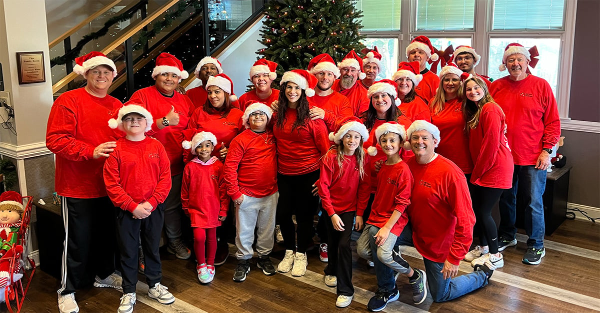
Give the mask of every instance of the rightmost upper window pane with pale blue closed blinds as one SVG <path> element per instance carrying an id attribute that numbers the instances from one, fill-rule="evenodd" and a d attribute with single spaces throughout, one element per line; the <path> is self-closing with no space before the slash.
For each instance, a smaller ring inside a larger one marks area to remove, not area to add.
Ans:
<path id="1" fill-rule="evenodd" d="M 562 29 L 565 0 L 494 0 L 493 29 Z"/>

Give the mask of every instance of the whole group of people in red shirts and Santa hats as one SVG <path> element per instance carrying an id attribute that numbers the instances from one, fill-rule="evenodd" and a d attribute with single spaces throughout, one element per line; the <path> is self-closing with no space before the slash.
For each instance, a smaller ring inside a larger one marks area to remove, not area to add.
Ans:
<path id="1" fill-rule="evenodd" d="M 376 47 L 337 64 L 323 53 L 307 70 L 285 72 L 280 89 L 272 88 L 278 65 L 259 59 L 250 68 L 254 88 L 239 98 L 211 57 L 194 71 L 202 85 L 180 91 L 188 73 L 161 53 L 155 85 L 125 105 L 107 95 L 117 72 L 110 59 L 77 58 L 74 71 L 87 85 L 55 101 L 47 126 L 66 232 L 59 310 L 78 312 L 74 292 L 94 282 L 122 289 L 118 311 L 131 312 L 138 271 L 151 298 L 175 301 L 161 284 L 163 229 L 167 251 L 187 259 L 191 228 L 204 284 L 233 233 L 234 281 L 246 279 L 254 250 L 265 275 L 305 275 L 316 215 L 336 306 L 354 296 L 352 231 L 361 232 L 356 252 L 376 272 L 370 311 L 398 299 L 400 274 L 416 304 L 428 293 L 435 302 L 455 299 L 487 285 L 503 266 L 501 251 L 517 244 L 517 191 L 527 200 L 522 261 L 539 264 L 545 170 L 560 134 L 550 86 L 529 73 L 531 55 L 517 43 L 503 55 L 509 75 L 492 83 L 475 73 L 481 57 L 472 47 L 458 47 L 439 74 L 426 66 L 434 51 L 416 37 L 407 62 L 382 80 Z M 275 229 L 285 248 L 277 266 L 269 257 Z M 118 250 L 98 249 L 107 242 Z M 404 260 L 403 246 L 416 248 L 424 269 Z M 472 273 L 457 276 L 461 260 Z"/>

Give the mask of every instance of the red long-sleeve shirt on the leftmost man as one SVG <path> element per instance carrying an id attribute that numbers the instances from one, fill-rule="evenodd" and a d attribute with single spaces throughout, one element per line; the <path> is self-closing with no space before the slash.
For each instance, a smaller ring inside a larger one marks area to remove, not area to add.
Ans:
<path id="1" fill-rule="evenodd" d="M 109 95 L 94 97 L 85 88 L 67 91 L 54 101 L 46 128 L 46 146 L 56 154 L 54 181 L 59 195 L 106 196 L 102 178 L 105 158 L 94 159 L 94 149 L 122 137 L 108 124 L 122 105 Z"/>

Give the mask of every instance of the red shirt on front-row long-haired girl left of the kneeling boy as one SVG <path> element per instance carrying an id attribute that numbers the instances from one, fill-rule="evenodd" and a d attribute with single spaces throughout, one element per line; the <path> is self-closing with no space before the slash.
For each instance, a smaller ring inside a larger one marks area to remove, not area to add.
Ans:
<path id="1" fill-rule="evenodd" d="M 365 158 L 368 158 L 367 151 Z M 362 216 L 365 212 L 370 194 L 370 174 L 368 162 L 365 161 L 365 174 L 361 177 L 355 155 L 344 155 L 341 168 L 337 161 L 337 149 L 329 150 L 323 158 L 317 186 L 321 204 L 329 216 L 352 211 Z"/>

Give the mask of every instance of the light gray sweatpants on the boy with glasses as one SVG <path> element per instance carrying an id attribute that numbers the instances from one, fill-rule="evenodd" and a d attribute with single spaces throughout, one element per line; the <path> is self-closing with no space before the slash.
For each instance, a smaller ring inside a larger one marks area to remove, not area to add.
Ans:
<path id="1" fill-rule="evenodd" d="M 244 201 L 235 210 L 235 245 L 238 260 L 249 260 L 254 251 L 254 228 L 256 230 L 256 252 L 259 257 L 271 253 L 274 243 L 275 211 L 279 192 L 262 198 L 244 195 Z"/>

